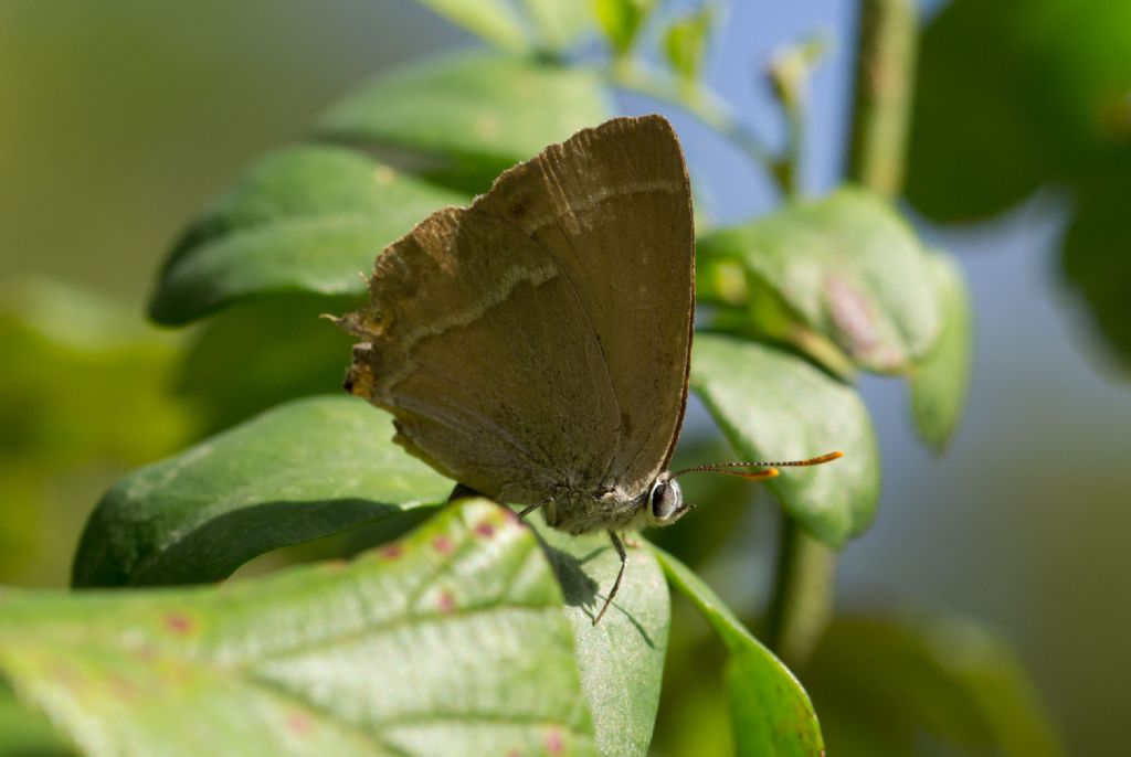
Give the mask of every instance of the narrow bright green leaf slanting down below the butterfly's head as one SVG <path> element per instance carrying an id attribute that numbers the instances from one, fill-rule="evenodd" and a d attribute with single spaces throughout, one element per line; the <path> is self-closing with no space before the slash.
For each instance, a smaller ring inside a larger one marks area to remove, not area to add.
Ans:
<path id="1" fill-rule="evenodd" d="M 813 705 L 793 673 L 689 567 L 657 547 L 653 551 L 667 580 L 699 609 L 729 652 L 726 685 L 735 754 L 740 757 L 823 754 Z"/>

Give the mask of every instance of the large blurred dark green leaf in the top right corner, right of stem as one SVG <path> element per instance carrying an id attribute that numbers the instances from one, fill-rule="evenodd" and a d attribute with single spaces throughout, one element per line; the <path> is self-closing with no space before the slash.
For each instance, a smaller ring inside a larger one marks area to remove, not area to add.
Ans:
<path id="1" fill-rule="evenodd" d="M 1083 188 L 1131 133 L 1131 5 L 953 0 L 917 71 L 907 195 L 921 211 L 975 220 L 1050 180 Z"/>

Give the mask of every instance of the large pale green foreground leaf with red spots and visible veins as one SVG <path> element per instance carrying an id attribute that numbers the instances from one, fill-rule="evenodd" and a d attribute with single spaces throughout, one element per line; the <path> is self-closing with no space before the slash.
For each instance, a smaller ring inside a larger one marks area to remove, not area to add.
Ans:
<path id="1" fill-rule="evenodd" d="M 0 672 L 88 754 L 597 754 L 553 573 L 482 501 L 219 589 L 7 591 Z"/>

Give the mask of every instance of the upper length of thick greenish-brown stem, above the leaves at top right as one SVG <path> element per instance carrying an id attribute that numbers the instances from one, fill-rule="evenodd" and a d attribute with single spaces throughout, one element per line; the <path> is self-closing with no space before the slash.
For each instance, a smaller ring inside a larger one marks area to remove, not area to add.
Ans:
<path id="1" fill-rule="evenodd" d="M 914 0 L 861 0 L 847 174 L 888 198 L 903 188 L 917 34 Z"/>

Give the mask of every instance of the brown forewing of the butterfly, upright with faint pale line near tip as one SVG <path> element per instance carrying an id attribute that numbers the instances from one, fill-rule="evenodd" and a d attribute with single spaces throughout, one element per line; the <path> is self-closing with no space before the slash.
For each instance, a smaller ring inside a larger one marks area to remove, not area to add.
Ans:
<path id="1" fill-rule="evenodd" d="M 573 282 L 618 402 L 608 476 L 646 489 L 683 420 L 694 315 L 691 189 L 671 124 L 653 115 L 579 132 L 503 174 L 482 208 Z"/>

